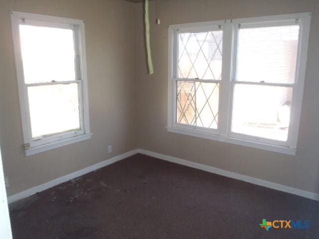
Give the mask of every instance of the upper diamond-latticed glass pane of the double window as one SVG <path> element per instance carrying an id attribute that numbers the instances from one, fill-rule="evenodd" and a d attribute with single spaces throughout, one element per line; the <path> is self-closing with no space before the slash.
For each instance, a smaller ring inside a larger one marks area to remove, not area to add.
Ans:
<path id="1" fill-rule="evenodd" d="M 178 78 L 221 79 L 223 31 L 178 34 Z"/>

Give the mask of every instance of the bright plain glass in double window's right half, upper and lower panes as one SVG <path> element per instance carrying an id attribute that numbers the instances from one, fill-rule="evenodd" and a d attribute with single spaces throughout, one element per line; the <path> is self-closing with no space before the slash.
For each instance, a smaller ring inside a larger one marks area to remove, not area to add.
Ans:
<path id="1" fill-rule="evenodd" d="M 298 38 L 299 25 L 239 29 L 232 131 L 287 140 Z"/>

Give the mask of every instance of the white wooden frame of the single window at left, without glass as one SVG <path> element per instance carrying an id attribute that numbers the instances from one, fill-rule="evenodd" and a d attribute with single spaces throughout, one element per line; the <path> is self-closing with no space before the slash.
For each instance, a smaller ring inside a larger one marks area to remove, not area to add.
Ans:
<path id="1" fill-rule="evenodd" d="M 85 50 L 85 29 L 82 20 L 69 19 L 64 17 L 55 17 L 39 15 L 24 12 L 11 12 L 12 37 L 15 54 L 16 74 L 18 80 L 18 92 L 22 119 L 23 141 L 26 156 L 47 151 L 53 148 L 61 147 L 71 143 L 89 139 L 92 135 L 90 132 L 89 122 L 89 104 L 88 104 L 88 87 L 87 87 L 87 68 L 86 68 L 86 50 Z M 34 25 L 72 29 L 75 41 L 75 71 L 76 79 L 67 82 L 50 82 L 26 84 L 24 82 L 23 64 L 20 48 L 19 25 Z M 52 136 L 46 136 L 39 139 L 32 139 L 31 120 L 29 112 L 29 102 L 27 87 L 55 84 L 78 84 L 79 94 L 79 112 L 80 112 L 80 129 L 72 132 L 57 133 Z"/>

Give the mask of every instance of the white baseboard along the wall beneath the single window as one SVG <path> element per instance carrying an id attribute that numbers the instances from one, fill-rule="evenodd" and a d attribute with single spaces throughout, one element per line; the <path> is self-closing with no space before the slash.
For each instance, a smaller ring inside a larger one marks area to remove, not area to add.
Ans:
<path id="1" fill-rule="evenodd" d="M 56 179 L 53 179 L 52 181 L 49 181 L 49 182 L 46 182 L 44 184 L 41 184 L 41 185 L 38 185 L 38 186 L 35 186 L 33 188 L 29 188 L 25 191 L 22 191 L 22 192 L 19 192 L 17 194 L 14 194 L 12 196 L 9 196 L 8 197 L 8 203 L 13 203 L 17 200 L 20 200 L 20 199 L 23 199 L 23 198 L 26 198 L 26 197 L 29 197 L 29 196 L 32 196 L 38 192 L 42 192 L 46 189 L 49 189 L 49 188 L 52 188 L 56 185 L 59 185 L 60 183 L 64 183 L 64 182 L 67 182 L 73 178 L 77 178 L 77 177 L 80 177 L 84 174 L 87 174 L 89 172 L 92 172 L 96 169 L 99 169 L 99 168 L 102 168 L 102 167 L 105 167 L 107 165 L 110 165 L 112 163 L 115 163 L 117 161 L 120 161 L 122 159 L 125 159 L 127 157 L 130 157 L 134 154 L 137 154 L 138 153 L 138 150 L 137 149 L 134 149 L 134 150 L 131 150 L 129 152 L 126 152 L 126 153 L 123 153 L 121 155 L 118 155 L 118 156 L 115 156 L 113 158 L 110 158 L 110 159 L 107 159 L 105 161 L 102 161 L 100 163 L 97 163 L 97 164 L 94 164 L 94 165 L 91 165 L 89 167 L 86 167 L 86 168 L 83 168 L 79 171 L 76 171 L 74 173 L 70 173 L 68 175 L 65 175 L 65 176 L 62 176 L 60 178 L 56 178 Z"/>

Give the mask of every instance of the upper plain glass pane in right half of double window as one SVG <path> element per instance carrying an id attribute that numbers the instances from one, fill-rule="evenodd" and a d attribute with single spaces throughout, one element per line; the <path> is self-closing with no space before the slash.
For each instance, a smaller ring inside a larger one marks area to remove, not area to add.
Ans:
<path id="1" fill-rule="evenodd" d="M 239 30 L 237 80 L 293 83 L 299 25 Z"/>

